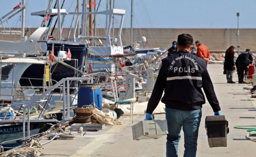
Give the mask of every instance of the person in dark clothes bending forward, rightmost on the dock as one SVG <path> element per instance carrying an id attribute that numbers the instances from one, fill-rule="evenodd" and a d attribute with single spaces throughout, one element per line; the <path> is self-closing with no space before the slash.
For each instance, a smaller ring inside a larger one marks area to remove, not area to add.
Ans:
<path id="1" fill-rule="evenodd" d="M 250 49 L 246 49 L 245 52 L 241 53 L 241 56 L 239 58 L 240 61 L 240 81 L 241 83 L 245 83 L 243 72 L 245 72 L 245 75 L 248 75 L 248 66 L 250 63 L 252 63 L 252 54 L 250 52 Z"/>

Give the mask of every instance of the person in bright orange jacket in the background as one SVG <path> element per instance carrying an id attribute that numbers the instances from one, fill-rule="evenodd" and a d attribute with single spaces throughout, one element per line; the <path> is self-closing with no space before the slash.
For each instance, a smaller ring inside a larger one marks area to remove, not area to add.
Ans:
<path id="1" fill-rule="evenodd" d="M 197 47 L 196 56 L 203 58 L 206 61 L 206 64 L 208 64 L 211 56 L 208 47 L 201 44 L 198 40 L 195 42 L 195 45 Z"/>

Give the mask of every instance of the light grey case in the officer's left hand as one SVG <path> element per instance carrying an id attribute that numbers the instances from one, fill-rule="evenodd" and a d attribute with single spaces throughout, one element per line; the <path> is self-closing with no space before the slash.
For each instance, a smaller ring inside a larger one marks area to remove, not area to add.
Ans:
<path id="1" fill-rule="evenodd" d="M 168 134 L 167 120 L 144 120 L 132 126 L 133 140 L 159 139 Z"/>

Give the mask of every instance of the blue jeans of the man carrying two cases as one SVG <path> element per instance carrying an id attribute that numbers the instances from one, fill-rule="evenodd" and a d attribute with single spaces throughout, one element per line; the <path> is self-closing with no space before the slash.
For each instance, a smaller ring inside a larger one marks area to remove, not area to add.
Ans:
<path id="1" fill-rule="evenodd" d="M 166 157 L 178 156 L 178 144 L 181 138 L 181 127 L 184 132 L 184 157 L 196 157 L 196 146 L 202 111 L 181 111 L 165 108 L 168 134 Z"/>

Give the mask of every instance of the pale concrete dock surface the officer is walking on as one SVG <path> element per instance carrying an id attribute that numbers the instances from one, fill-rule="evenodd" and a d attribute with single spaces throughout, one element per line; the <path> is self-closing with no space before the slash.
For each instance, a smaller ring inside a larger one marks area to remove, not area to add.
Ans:
<path id="1" fill-rule="evenodd" d="M 236 84 L 227 84 L 222 64 L 209 64 L 207 69 L 214 84 L 221 113 L 226 115 L 229 121 L 230 132 L 227 147 L 209 148 L 205 117 L 214 115 L 214 112 L 207 101 L 202 108 L 197 157 L 255 156 L 256 142 L 245 138 L 247 130 L 234 128 L 239 125 L 255 125 L 256 98 L 251 98 L 251 94 L 246 93 L 248 90 L 243 89 L 243 87 L 251 85 L 238 84 L 236 73 L 233 76 L 233 81 L 236 81 Z M 144 118 L 144 115 L 136 116 L 133 124 L 144 120 Z M 155 119 L 163 120 L 165 114 L 155 115 Z M 77 133 L 74 140 L 54 140 L 44 145 L 45 149 L 41 152 L 51 154 L 51 157 L 165 157 L 166 136 L 156 140 L 133 141 L 131 127 L 133 124 L 130 124 L 130 117 L 122 117 L 121 120 L 124 125 L 106 126 L 105 130 L 87 132 L 83 137 Z M 252 137 L 252 139 L 256 139 L 256 137 Z M 184 136 L 181 130 L 178 156 L 182 157 L 183 152 Z"/>

